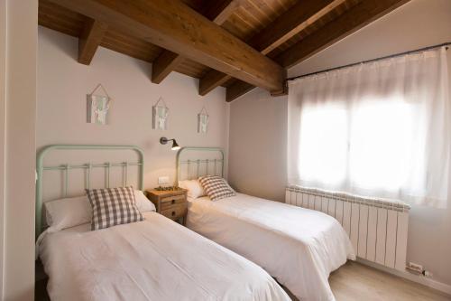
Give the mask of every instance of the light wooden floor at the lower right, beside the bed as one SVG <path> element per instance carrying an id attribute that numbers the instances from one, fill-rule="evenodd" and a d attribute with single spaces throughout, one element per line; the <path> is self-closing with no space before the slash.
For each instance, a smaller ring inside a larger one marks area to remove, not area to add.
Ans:
<path id="1" fill-rule="evenodd" d="M 352 261 L 333 272 L 329 283 L 337 301 L 451 300 L 435 289 Z"/>

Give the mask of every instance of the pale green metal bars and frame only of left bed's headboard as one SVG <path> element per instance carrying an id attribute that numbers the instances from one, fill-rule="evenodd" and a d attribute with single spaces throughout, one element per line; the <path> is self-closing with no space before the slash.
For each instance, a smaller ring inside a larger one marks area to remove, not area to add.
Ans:
<path id="1" fill-rule="evenodd" d="M 43 160 L 45 155 L 51 150 L 132 150 L 138 155 L 137 162 L 122 162 L 122 163 L 110 163 L 103 164 L 91 164 L 84 165 L 57 165 L 57 166 L 44 166 Z M 60 170 L 64 172 L 64 196 L 67 196 L 69 187 L 69 171 L 73 169 L 84 169 L 87 171 L 85 176 L 85 188 L 90 188 L 90 175 L 93 168 L 105 168 L 106 169 L 106 187 L 109 186 L 110 168 L 111 167 L 123 167 L 124 186 L 127 184 L 127 168 L 128 166 L 138 166 L 138 188 L 143 190 L 143 178 L 144 178 L 144 154 L 141 148 L 138 146 L 99 146 L 99 145 L 51 145 L 44 146 L 36 155 L 36 238 L 42 231 L 42 176 L 44 170 Z"/>

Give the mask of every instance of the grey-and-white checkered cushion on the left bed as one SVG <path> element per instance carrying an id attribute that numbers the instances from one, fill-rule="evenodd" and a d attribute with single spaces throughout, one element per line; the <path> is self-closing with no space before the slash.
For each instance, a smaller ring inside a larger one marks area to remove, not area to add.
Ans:
<path id="1" fill-rule="evenodd" d="M 134 202 L 132 186 L 86 192 L 92 207 L 91 230 L 144 220 Z"/>

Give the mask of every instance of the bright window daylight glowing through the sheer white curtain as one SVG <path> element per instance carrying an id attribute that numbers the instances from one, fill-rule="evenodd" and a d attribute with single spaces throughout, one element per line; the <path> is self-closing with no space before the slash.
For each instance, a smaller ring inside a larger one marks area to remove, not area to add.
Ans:
<path id="1" fill-rule="evenodd" d="M 366 99 L 353 108 L 340 101 L 306 106 L 298 166 L 304 181 L 398 192 L 411 174 L 424 174 L 411 170 L 424 166 L 425 142 L 415 138 L 415 110 L 404 99 Z"/>

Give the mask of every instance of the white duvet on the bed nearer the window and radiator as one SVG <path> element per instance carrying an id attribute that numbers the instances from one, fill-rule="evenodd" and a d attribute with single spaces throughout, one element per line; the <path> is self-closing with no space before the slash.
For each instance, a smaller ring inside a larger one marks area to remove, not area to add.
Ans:
<path id="1" fill-rule="evenodd" d="M 216 202 L 190 199 L 187 226 L 252 260 L 300 300 L 335 300 L 327 278 L 355 259 L 333 217 L 241 193 Z"/>

